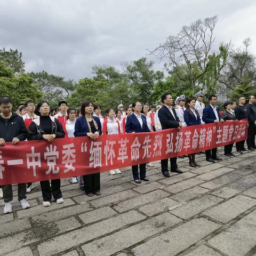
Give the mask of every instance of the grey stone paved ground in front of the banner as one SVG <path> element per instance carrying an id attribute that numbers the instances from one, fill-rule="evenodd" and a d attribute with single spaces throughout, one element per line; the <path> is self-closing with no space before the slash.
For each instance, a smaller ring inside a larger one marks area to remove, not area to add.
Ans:
<path id="1" fill-rule="evenodd" d="M 201 155 L 196 169 L 179 159 L 184 173 L 171 178 L 155 163 L 150 182 L 141 185 L 130 168 L 103 173 L 102 195 L 92 198 L 66 179 L 65 203 L 46 208 L 37 185 L 28 195 L 30 209 L 16 203 L 12 214 L 0 215 L 0 255 L 255 256 L 255 157 L 212 164 Z M 14 195 L 17 202 L 17 190 Z"/>

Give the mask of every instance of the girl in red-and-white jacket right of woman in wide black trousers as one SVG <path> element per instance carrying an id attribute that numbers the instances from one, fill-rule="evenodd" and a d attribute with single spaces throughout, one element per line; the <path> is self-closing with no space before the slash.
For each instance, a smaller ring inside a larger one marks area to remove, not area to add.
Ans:
<path id="1" fill-rule="evenodd" d="M 107 109 L 107 118 L 103 122 L 102 134 L 120 134 L 121 128 L 118 120 L 115 118 L 115 111 L 111 108 Z M 119 169 L 110 170 L 110 175 L 122 173 Z"/>

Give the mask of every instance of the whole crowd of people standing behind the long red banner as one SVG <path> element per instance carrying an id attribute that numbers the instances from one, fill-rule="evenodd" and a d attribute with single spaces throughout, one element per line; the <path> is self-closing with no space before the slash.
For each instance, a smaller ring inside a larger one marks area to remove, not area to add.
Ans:
<path id="1" fill-rule="evenodd" d="M 55 138 L 81 137 L 87 136 L 92 140 L 97 139 L 101 134 L 121 134 L 154 132 L 175 128 L 180 130 L 184 126 L 233 122 L 244 118 L 248 119 L 247 149 L 245 141 L 236 143 L 237 154 L 244 154 L 247 151 L 256 150 L 256 108 L 254 106 L 255 97 L 251 95 L 246 104 L 245 97 L 238 98 L 238 105 L 235 101 L 226 101 L 224 110 L 220 111 L 217 106 L 217 97 L 212 94 L 208 97 L 209 105 L 204 105 L 203 92 L 197 92 L 194 98 L 187 98 L 180 95 L 173 102 L 170 93 L 164 93 L 161 97 L 161 104 L 152 105 L 149 110 L 147 104 L 133 102 L 124 109 L 122 104 L 117 109 L 108 108 L 106 117 L 101 113 L 101 106 L 94 104 L 90 100 L 82 103 L 81 109 L 69 107 L 67 102 L 62 100 L 59 107 L 50 109 L 47 101 L 36 103 L 28 100 L 24 105 L 18 106 L 16 112 L 12 111 L 13 104 L 10 97 L 0 98 L 0 146 L 5 146 L 6 142 L 13 145 L 23 140 L 46 140 L 52 142 Z M 233 143 L 225 146 L 225 156 L 235 157 L 232 153 Z M 196 168 L 200 166 L 196 162 L 196 154 L 205 154 L 206 161 L 214 163 L 222 159 L 217 156 L 217 148 L 205 150 L 181 158 L 188 157 L 188 164 Z M 170 177 L 168 169 L 168 159 L 161 160 L 161 169 L 164 177 Z M 178 169 L 177 157 L 170 158 L 170 171 L 182 173 Z M 132 166 L 133 180 L 136 183 L 148 182 L 147 166 L 154 167 L 154 164 L 140 164 Z M 110 175 L 122 173 L 121 170 L 110 170 Z M 89 197 L 100 195 L 100 173 L 73 177 L 72 183 L 78 183 L 79 187 L 85 191 Z M 55 179 L 41 181 L 43 206 L 51 205 L 54 198 L 57 204 L 63 203 L 61 193 L 61 180 Z M 18 201 L 22 209 L 30 207 L 26 199 L 26 193 L 34 188 L 33 183 L 18 184 Z M 0 197 L 4 199 L 4 213 L 12 212 L 12 185 L 0 187 Z"/>

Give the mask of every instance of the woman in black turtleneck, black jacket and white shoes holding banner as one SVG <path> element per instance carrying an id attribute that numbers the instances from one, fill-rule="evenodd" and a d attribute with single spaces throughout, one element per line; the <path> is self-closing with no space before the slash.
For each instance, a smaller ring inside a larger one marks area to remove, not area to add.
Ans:
<path id="1" fill-rule="evenodd" d="M 39 118 L 34 119 L 30 124 L 28 140 L 47 140 L 48 142 L 52 142 L 55 138 L 65 137 L 65 132 L 60 122 L 53 116 L 50 116 L 48 102 L 39 102 L 36 111 Z M 57 204 L 64 202 L 60 191 L 60 179 L 51 180 L 51 186 L 49 180 L 40 181 L 40 185 L 43 194 L 43 206 L 51 205 L 52 196 Z"/>

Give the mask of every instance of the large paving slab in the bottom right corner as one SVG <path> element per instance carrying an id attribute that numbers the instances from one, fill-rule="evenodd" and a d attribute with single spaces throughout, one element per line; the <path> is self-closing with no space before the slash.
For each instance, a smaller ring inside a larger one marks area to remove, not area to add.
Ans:
<path id="1" fill-rule="evenodd" d="M 228 256 L 244 256 L 256 244 L 256 211 L 211 238 L 208 243 Z"/>

